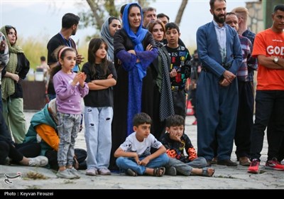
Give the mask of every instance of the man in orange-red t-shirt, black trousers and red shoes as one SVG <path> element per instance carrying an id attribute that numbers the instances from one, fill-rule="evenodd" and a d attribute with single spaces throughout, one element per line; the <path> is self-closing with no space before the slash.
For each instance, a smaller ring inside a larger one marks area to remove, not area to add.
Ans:
<path id="1" fill-rule="evenodd" d="M 258 58 L 256 87 L 256 119 L 251 134 L 251 166 L 249 173 L 259 173 L 264 131 L 273 119 L 274 131 L 268 139 L 266 168 L 283 170 L 278 151 L 284 138 L 284 5 L 275 6 L 273 25 L 256 35 L 253 57 Z M 273 115 L 273 117 L 271 117 Z"/>

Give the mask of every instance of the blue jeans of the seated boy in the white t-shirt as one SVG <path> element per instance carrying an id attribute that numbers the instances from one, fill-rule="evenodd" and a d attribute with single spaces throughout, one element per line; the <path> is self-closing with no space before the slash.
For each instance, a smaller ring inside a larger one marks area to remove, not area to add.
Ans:
<path id="1" fill-rule="evenodd" d="M 143 160 L 145 156 L 139 157 L 139 160 Z M 160 166 L 165 166 L 169 161 L 167 154 L 162 154 L 157 158 L 149 161 L 146 166 L 138 165 L 134 158 L 128 157 L 119 157 L 116 159 L 116 165 L 123 171 L 126 171 L 128 168 L 131 168 L 133 171 L 138 173 L 138 175 L 143 175 L 146 172 L 146 168 L 158 168 Z"/>

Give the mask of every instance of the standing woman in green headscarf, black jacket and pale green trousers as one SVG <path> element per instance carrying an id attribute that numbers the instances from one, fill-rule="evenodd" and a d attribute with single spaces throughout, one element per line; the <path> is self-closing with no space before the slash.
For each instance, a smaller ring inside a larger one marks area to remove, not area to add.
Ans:
<path id="1" fill-rule="evenodd" d="M 13 26 L 3 26 L 0 31 L 7 38 L 10 60 L 2 71 L 2 102 L 5 122 L 16 143 L 23 142 L 26 136 L 26 119 L 23 114 L 23 88 L 21 80 L 26 78 L 30 63 L 23 50 L 16 45 L 17 31 Z"/>

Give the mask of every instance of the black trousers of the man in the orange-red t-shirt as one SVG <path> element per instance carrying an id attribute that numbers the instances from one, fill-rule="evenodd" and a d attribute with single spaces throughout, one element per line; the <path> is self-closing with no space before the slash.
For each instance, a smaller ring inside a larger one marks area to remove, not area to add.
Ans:
<path id="1" fill-rule="evenodd" d="M 251 159 L 261 157 L 264 131 L 270 119 L 273 119 L 273 132 L 268 137 L 268 161 L 278 158 L 284 138 L 283 104 L 284 90 L 256 91 L 256 120 L 251 133 Z"/>

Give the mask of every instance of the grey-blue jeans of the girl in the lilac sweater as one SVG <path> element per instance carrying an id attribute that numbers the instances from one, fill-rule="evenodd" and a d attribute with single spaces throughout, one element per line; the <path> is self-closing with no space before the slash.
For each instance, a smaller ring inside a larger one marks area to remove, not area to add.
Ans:
<path id="1" fill-rule="evenodd" d="M 75 139 L 80 129 L 81 114 L 58 112 L 58 166 L 72 166 Z"/>

